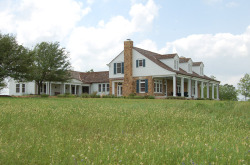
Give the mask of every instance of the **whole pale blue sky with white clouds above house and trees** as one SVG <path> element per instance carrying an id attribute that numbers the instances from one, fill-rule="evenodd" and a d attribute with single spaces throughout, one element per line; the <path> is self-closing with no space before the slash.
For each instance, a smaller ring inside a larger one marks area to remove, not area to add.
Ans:
<path id="1" fill-rule="evenodd" d="M 249 0 L 0 0 L 0 32 L 30 49 L 59 41 L 83 72 L 108 70 L 131 39 L 202 61 L 206 75 L 236 87 L 250 73 L 249 7 Z"/>

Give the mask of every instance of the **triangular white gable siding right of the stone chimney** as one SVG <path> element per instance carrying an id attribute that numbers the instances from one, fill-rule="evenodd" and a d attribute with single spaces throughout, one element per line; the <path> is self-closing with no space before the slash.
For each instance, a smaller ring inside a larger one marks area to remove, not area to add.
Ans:
<path id="1" fill-rule="evenodd" d="M 145 67 L 138 67 L 136 68 L 136 60 L 138 59 L 145 59 Z M 157 64 L 155 64 L 150 59 L 146 58 L 136 50 L 133 50 L 133 77 L 139 76 L 164 76 L 168 74 L 175 74 L 170 72 Z"/>

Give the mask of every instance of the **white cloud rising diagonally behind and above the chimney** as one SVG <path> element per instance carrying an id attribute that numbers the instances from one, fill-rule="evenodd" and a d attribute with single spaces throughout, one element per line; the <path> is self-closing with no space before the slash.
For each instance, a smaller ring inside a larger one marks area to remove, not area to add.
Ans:
<path id="1" fill-rule="evenodd" d="M 99 21 L 95 27 L 81 26 L 73 30 L 66 47 L 75 70 L 107 70 L 106 64 L 123 50 L 123 41 L 150 27 L 158 7 L 148 0 L 145 5 L 132 5 L 129 13 L 131 19 L 115 16 L 106 23 Z"/>

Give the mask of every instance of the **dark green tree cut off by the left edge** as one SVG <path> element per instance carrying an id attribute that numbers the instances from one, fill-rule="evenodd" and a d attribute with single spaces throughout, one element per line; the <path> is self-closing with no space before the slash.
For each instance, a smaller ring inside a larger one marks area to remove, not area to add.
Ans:
<path id="1" fill-rule="evenodd" d="M 0 33 L 0 89 L 6 85 L 4 80 L 7 77 L 29 80 L 32 62 L 29 50 L 19 45 L 13 35 Z"/>

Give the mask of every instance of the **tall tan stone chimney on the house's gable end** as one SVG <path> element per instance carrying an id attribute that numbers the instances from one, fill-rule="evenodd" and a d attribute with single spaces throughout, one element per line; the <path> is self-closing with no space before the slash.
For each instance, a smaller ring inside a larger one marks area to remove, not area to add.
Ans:
<path id="1" fill-rule="evenodd" d="M 133 41 L 131 41 L 130 39 L 124 41 L 123 96 L 128 96 L 129 94 L 133 93 L 132 49 L 133 49 Z"/>

